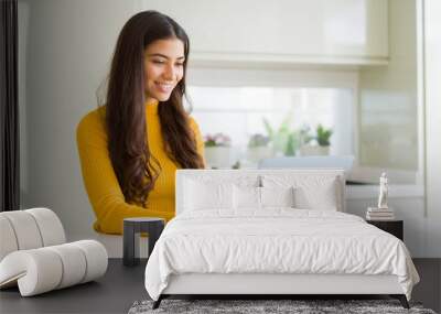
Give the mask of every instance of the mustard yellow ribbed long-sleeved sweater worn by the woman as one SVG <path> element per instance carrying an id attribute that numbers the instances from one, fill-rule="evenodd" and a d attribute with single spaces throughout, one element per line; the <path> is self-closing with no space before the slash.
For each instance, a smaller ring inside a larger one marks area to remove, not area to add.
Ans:
<path id="1" fill-rule="evenodd" d="M 107 149 L 105 107 L 87 113 L 77 127 L 77 144 L 84 184 L 97 220 L 95 230 L 105 234 L 122 234 L 122 219 L 127 217 L 174 217 L 174 176 L 176 165 L 164 151 L 158 102 L 146 105 L 148 142 L 162 171 L 150 192 L 147 208 L 128 204 L 119 186 Z M 190 117 L 190 126 L 196 136 L 197 151 L 203 156 L 204 142 L 197 123 Z"/>

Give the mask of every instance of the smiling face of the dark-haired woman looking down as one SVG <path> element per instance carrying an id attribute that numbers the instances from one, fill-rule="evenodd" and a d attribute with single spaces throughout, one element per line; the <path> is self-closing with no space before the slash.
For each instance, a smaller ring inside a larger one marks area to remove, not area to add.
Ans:
<path id="1" fill-rule="evenodd" d="M 179 39 L 158 40 L 147 46 L 144 77 L 147 102 L 165 101 L 184 76 L 184 44 Z"/>

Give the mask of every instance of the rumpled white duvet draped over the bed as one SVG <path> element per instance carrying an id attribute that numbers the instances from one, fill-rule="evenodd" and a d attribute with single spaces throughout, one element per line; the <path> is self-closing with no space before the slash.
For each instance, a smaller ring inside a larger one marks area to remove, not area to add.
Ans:
<path id="1" fill-rule="evenodd" d="M 329 210 L 183 213 L 158 240 L 146 289 L 158 300 L 171 274 L 395 274 L 410 300 L 419 275 L 402 241 L 361 217 Z"/>

